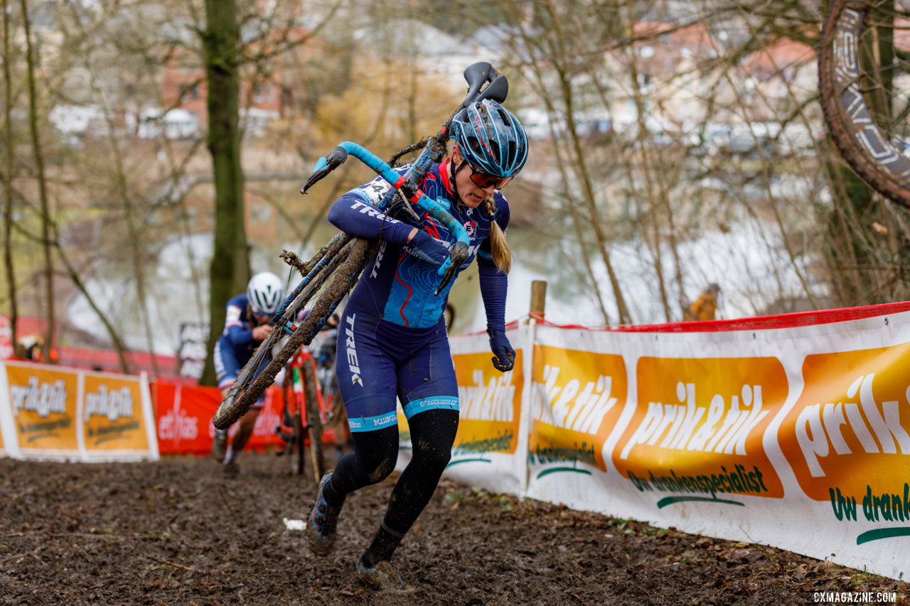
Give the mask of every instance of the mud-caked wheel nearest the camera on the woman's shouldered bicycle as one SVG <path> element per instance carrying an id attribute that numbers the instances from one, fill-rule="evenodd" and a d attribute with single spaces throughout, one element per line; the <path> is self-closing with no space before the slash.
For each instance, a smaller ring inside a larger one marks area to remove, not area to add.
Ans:
<path id="1" fill-rule="evenodd" d="M 375 243 L 369 240 L 361 238 L 351 240 L 349 253 L 331 278 L 329 287 L 319 296 L 310 309 L 307 318 L 294 330 L 293 334 L 288 338 L 288 342 L 272 357 L 256 379 L 253 379 L 246 387 L 241 387 L 238 391 L 233 392 L 233 400 L 226 399 L 221 403 L 215 413 L 215 417 L 212 419 L 212 423 L 217 429 L 227 429 L 245 415 L 249 407 L 275 381 L 278 370 L 294 355 L 294 352 L 301 345 L 308 345 L 313 340 L 319 332 L 319 328 L 322 328 L 322 325 L 325 324 L 332 312 L 335 311 L 335 308 L 338 307 L 341 299 L 357 284 L 360 272 L 363 271 L 367 261 L 372 257 L 375 247 Z M 339 255 L 343 253 L 344 251 L 342 250 Z M 276 329 L 276 331 L 279 329 Z M 266 343 L 268 343 L 268 340 L 260 348 L 267 347 Z M 256 356 L 254 356 L 254 359 L 258 359 L 260 364 L 264 361 L 264 359 Z M 250 363 L 252 362 L 253 360 L 250 360 Z M 255 374 L 255 369 L 251 370 L 250 376 Z M 245 367 L 241 371 L 241 375 L 246 371 Z M 228 394 L 228 397 L 230 395 Z"/>

